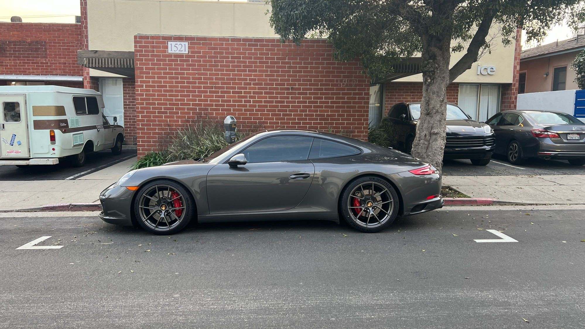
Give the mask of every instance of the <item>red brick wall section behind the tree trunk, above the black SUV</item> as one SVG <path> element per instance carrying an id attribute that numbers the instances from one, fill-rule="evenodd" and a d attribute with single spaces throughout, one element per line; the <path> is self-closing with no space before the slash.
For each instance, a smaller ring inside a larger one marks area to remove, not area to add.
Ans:
<path id="1" fill-rule="evenodd" d="M 459 84 L 447 87 L 447 102 L 457 103 Z M 388 82 L 384 85 L 384 113 L 396 103 L 422 101 L 422 82 Z"/>

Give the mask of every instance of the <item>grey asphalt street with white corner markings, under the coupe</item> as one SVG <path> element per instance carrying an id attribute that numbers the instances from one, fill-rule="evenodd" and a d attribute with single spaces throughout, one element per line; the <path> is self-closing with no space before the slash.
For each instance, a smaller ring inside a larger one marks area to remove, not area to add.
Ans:
<path id="1" fill-rule="evenodd" d="M 170 237 L 71 216 L 0 218 L 0 327 L 585 326 L 583 210 L 431 212 L 377 234 L 205 224 Z M 490 228 L 518 242 L 474 241 L 498 238 Z M 41 236 L 64 247 L 15 250 Z"/>

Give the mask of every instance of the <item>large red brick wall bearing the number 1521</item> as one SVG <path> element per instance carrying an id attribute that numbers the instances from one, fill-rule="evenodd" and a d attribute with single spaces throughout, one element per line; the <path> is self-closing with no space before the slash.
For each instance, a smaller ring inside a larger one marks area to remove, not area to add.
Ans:
<path id="1" fill-rule="evenodd" d="M 167 41 L 188 54 L 167 54 Z M 349 131 L 367 138 L 370 79 L 359 62 L 332 58 L 325 40 L 135 36 L 138 155 L 169 126 L 234 115 L 240 124 Z"/>

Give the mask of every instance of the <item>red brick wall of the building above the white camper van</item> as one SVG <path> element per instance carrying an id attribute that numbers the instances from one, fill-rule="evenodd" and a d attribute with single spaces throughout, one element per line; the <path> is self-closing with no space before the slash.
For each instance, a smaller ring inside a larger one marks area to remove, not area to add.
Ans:
<path id="1" fill-rule="evenodd" d="M 82 75 L 80 24 L 0 22 L 2 74 Z"/>

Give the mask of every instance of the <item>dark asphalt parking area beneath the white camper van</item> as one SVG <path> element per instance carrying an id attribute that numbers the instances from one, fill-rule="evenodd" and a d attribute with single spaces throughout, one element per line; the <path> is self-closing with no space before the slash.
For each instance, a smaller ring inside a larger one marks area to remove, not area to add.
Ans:
<path id="1" fill-rule="evenodd" d="M 107 168 L 118 162 L 136 157 L 136 150 L 122 150 L 122 154 L 113 155 L 110 150 L 87 154 L 85 165 L 80 168 L 71 167 L 69 161 L 61 160 L 56 165 L 32 165 L 18 168 L 15 165 L 0 165 L 0 181 L 53 181 L 86 172 Z M 75 176 L 74 179 L 84 175 Z"/>

